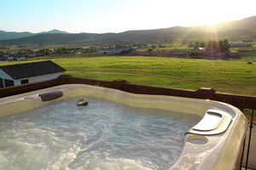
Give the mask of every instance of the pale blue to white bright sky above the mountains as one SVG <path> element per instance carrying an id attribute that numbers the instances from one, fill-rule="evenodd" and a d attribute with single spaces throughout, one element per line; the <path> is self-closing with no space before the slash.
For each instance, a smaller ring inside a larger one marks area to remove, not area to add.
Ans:
<path id="1" fill-rule="evenodd" d="M 0 0 L 0 30 L 122 32 L 256 15 L 256 0 Z"/>

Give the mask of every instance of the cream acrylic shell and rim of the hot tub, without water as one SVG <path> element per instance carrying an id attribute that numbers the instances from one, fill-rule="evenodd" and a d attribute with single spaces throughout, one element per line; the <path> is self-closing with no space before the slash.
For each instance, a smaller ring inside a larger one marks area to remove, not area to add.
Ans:
<path id="1" fill-rule="evenodd" d="M 39 94 L 61 91 L 62 97 L 42 101 Z M 219 111 L 230 117 L 230 122 L 220 121 L 218 127 L 227 127 L 224 132 L 212 127 L 203 131 L 191 130 L 185 134 L 183 152 L 170 170 L 202 169 L 223 170 L 239 169 L 241 147 L 246 133 L 247 119 L 236 107 L 207 99 L 189 99 L 172 96 L 131 94 L 111 88 L 101 88 L 84 84 L 69 84 L 45 88 L 26 94 L 0 99 L 0 117 L 30 111 L 49 103 L 76 97 L 94 97 L 118 102 L 140 108 L 164 109 L 180 114 L 201 116 L 201 124 L 197 127 L 207 127 L 207 111 Z M 204 117 L 204 118 L 203 118 Z M 210 118 L 211 119 L 211 118 Z M 226 120 L 226 119 L 222 119 Z M 228 123 L 228 124 L 227 124 Z M 219 125 L 220 124 L 220 125 Z"/>

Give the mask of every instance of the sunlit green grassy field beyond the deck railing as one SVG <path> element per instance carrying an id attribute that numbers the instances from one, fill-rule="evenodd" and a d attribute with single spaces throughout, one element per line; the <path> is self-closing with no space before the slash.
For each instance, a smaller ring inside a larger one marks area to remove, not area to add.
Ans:
<path id="1" fill-rule="evenodd" d="M 256 95 L 256 63 L 247 65 L 246 59 L 207 60 L 138 56 L 63 56 L 50 59 L 66 68 L 67 74 L 74 77 L 109 81 L 125 79 L 137 84 L 166 88 L 210 87 L 225 93 Z M 255 58 L 252 59 L 254 61 Z M 14 63 L 18 62 L 0 65 Z"/>

